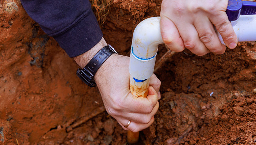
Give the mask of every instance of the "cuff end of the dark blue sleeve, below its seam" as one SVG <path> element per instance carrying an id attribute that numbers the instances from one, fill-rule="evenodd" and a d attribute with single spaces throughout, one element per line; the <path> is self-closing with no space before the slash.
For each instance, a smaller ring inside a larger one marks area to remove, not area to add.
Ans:
<path id="1" fill-rule="evenodd" d="M 49 34 L 59 43 L 69 57 L 83 54 L 95 46 L 102 38 L 103 34 L 98 22 L 89 9 L 89 13 L 81 15 L 74 24 L 64 32 Z"/>

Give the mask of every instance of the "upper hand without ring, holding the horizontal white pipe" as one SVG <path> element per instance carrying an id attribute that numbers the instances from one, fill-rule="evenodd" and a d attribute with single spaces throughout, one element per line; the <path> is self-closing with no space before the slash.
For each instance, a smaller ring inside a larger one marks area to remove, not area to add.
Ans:
<path id="1" fill-rule="evenodd" d="M 237 36 L 225 13 L 228 0 L 163 0 L 161 5 L 161 34 L 164 43 L 173 51 L 185 48 L 202 56 L 209 52 L 223 54 L 213 25 L 224 43 L 234 49 Z"/>

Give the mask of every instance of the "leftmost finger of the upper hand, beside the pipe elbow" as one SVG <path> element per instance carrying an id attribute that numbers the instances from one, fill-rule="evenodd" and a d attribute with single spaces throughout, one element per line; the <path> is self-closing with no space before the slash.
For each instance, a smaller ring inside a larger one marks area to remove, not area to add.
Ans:
<path id="1" fill-rule="evenodd" d="M 168 48 L 175 52 L 181 52 L 185 49 L 178 29 L 169 18 L 161 16 L 160 29 L 163 42 Z"/>

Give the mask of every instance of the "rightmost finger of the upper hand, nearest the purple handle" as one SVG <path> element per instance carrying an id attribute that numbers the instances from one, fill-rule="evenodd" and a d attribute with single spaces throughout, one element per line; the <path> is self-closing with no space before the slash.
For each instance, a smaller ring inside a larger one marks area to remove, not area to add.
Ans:
<path id="1" fill-rule="evenodd" d="M 217 31 L 223 38 L 224 43 L 230 48 L 234 49 L 237 45 L 237 36 L 233 30 L 228 16 L 224 11 L 219 12 L 210 17 L 210 21 L 216 27 Z"/>

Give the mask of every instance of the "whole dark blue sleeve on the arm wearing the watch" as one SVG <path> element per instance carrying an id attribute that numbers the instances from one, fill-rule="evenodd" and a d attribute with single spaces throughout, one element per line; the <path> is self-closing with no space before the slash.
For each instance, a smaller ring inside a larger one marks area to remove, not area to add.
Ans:
<path id="1" fill-rule="evenodd" d="M 69 57 L 87 52 L 103 36 L 88 0 L 21 0 L 21 3 Z"/>

